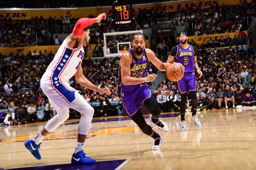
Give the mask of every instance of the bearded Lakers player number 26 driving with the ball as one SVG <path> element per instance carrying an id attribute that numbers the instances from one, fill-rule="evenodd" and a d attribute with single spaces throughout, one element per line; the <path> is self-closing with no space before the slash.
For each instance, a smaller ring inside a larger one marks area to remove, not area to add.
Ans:
<path id="1" fill-rule="evenodd" d="M 134 34 L 132 36 L 132 48 L 125 51 L 121 56 L 118 92 L 132 120 L 140 127 L 143 133 L 154 138 L 155 141 L 152 150 L 158 150 L 161 148 L 160 144 L 163 142 L 163 139 L 146 123 L 141 113 L 140 108 L 142 106 L 140 102 L 152 114 L 149 120 L 156 124 L 161 131 L 168 132 L 168 126 L 158 119 L 160 117 L 160 109 L 147 84 L 147 82 L 153 82 L 157 76 L 156 74 L 149 74 L 146 77 L 146 73 L 149 61 L 161 71 L 165 71 L 169 64 L 162 63 L 156 58 L 152 50 L 145 49 L 144 47 L 145 36 L 142 33 Z"/>

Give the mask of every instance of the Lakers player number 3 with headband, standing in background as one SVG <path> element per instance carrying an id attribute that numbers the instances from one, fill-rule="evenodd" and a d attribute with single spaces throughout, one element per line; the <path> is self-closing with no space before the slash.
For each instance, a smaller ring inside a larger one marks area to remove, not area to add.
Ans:
<path id="1" fill-rule="evenodd" d="M 196 63 L 197 49 L 194 46 L 188 44 L 188 35 L 186 33 L 180 33 L 181 43 L 171 49 L 171 54 L 169 55 L 166 63 L 172 63 L 173 59 L 177 63 L 181 63 L 185 68 L 185 73 L 183 78 L 176 83 L 176 87 L 179 88 L 179 93 L 181 96 L 180 101 L 180 127 L 182 130 L 188 130 L 185 122 L 185 111 L 187 103 L 187 92 L 191 97 L 192 105 L 192 115 L 190 116 L 196 126 L 200 127 L 201 122 L 196 115 L 197 108 L 197 98 L 196 98 L 196 77 L 194 69 L 200 74 L 199 78 L 202 77 L 203 73 L 199 70 Z"/>

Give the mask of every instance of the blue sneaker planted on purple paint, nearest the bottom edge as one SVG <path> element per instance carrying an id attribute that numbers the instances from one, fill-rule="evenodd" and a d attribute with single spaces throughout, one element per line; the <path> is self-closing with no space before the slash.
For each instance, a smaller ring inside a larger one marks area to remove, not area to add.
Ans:
<path id="1" fill-rule="evenodd" d="M 73 153 L 71 164 L 72 165 L 87 165 L 87 164 L 95 164 L 96 160 L 90 157 L 85 156 L 86 153 L 84 151 L 79 151 L 76 154 Z"/>

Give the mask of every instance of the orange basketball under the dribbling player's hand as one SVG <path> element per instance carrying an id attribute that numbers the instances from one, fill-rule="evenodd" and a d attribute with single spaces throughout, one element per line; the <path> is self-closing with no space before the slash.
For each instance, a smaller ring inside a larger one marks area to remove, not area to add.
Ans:
<path id="1" fill-rule="evenodd" d="M 171 63 L 165 70 L 166 77 L 171 81 L 179 81 L 184 76 L 181 63 Z"/>

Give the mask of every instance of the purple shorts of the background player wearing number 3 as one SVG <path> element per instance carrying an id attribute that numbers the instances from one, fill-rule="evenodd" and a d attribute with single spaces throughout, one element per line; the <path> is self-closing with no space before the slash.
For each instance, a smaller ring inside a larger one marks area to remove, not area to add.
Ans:
<path id="1" fill-rule="evenodd" d="M 194 72 L 184 74 L 183 78 L 177 82 L 180 94 L 196 91 L 196 77 Z"/>

